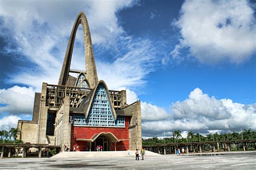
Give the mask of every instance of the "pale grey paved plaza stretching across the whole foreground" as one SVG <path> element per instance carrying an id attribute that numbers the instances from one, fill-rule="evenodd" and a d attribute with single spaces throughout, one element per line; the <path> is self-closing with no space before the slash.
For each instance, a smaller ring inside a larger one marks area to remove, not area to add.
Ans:
<path id="1" fill-rule="evenodd" d="M 256 153 L 225 155 L 160 155 L 109 158 L 5 158 L 0 169 L 255 169 Z"/>

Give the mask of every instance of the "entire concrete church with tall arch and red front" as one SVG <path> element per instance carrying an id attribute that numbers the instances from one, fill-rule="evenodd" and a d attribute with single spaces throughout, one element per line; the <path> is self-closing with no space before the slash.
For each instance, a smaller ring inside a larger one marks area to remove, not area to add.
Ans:
<path id="1" fill-rule="evenodd" d="M 70 69 L 78 25 L 84 32 L 85 68 Z M 70 75 L 77 73 L 77 77 Z M 73 26 L 58 85 L 43 83 L 35 94 L 32 121 L 18 121 L 17 139 L 26 143 L 79 145 L 80 151 L 136 150 L 142 147 L 140 102 L 126 103 L 126 91 L 109 90 L 98 81 L 91 33 L 80 12 Z"/>

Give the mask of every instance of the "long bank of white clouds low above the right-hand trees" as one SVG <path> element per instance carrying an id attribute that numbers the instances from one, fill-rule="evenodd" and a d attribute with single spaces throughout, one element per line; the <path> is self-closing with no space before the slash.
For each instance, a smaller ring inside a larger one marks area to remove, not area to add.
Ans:
<path id="1" fill-rule="evenodd" d="M 199 88 L 188 98 L 171 106 L 171 117 L 161 121 L 143 122 L 144 136 L 155 136 L 163 131 L 198 131 L 201 133 L 256 129 L 256 104 L 234 103 L 230 99 L 217 100 Z M 159 115 L 160 116 L 160 115 Z"/>

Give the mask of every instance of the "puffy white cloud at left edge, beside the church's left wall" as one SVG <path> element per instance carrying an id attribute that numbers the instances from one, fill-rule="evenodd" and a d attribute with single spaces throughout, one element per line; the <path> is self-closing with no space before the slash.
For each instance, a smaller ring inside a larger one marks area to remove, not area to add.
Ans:
<path id="1" fill-rule="evenodd" d="M 0 114 L 31 114 L 35 91 L 32 87 L 14 86 L 9 89 L 0 89 Z"/>

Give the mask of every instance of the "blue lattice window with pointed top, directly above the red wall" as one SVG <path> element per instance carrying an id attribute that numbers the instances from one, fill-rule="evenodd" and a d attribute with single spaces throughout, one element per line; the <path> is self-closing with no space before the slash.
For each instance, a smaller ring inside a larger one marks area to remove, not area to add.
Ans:
<path id="1" fill-rule="evenodd" d="M 118 116 L 114 121 L 111 105 L 107 98 L 106 89 L 102 84 L 96 89 L 90 111 L 85 119 L 84 114 L 74 114 L 73 124 L 80 126 L 110 126 L 125 127 L 125 117 Z"/>

